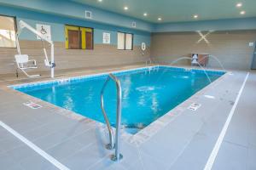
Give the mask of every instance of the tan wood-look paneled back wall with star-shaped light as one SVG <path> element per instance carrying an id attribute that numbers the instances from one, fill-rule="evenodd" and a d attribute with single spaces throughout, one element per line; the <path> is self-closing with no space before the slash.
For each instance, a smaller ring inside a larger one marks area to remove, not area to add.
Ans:
<path id="1" fill-rule="evenodd" d="M 202 32 L 203 35 L 207 32 Z M 212 54 L 226 69 L 247 70 L 251 67 L 253 49 L 249 42 L 256 41 L 256 31 L 215 31 L 205 40 L 198 32 L 154 33 L 151 39 L 151 56 L 155 60 L 172 61 L 191 53 Z M 189 64 L 183 61 L 181 64 Z M 209 66 L 218 67 L 214 59 Z"/>

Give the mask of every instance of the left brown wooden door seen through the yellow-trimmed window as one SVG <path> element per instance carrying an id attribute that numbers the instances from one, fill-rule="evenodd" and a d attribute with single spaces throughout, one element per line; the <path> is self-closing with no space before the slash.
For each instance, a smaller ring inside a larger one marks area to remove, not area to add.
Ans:
<path id="1" fill-rule="evenodd" d="M 80 31 L 68 30 L 68 48 L 79 49 L 80 48 Z"/>

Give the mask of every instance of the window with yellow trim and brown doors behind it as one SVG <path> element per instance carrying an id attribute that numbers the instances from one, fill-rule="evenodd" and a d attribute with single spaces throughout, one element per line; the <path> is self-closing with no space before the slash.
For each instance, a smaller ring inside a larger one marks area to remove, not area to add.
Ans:
<path id="1" fill-rule="evenodd" d="M 65 26 L 67 49 L 93 49 L 93 29 Z"/>

